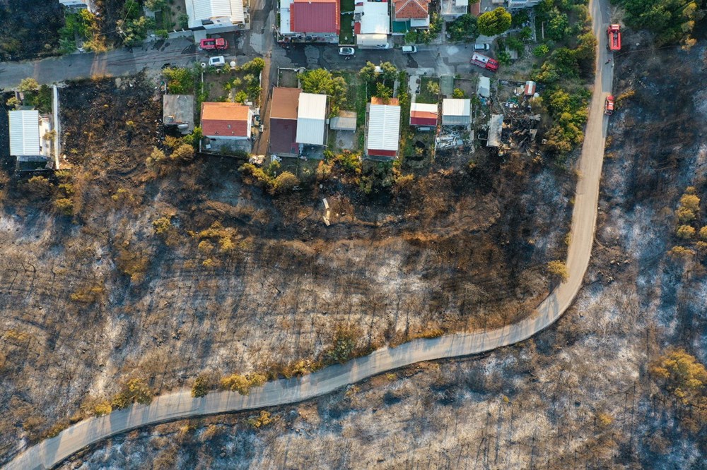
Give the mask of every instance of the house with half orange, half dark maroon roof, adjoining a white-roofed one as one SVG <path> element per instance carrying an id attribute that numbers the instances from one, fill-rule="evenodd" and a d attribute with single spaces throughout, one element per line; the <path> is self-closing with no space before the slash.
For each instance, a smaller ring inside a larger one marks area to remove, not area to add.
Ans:
<path id="1" fill-rule="evenodd" d="M 297 107 L 299 88 L 275 87 L 270 100 L 270 152 L 276 155 L 298 155 Z"/>

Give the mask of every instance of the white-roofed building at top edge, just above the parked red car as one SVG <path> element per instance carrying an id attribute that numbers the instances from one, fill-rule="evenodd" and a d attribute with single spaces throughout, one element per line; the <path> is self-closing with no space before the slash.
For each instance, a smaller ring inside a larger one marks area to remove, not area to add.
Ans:
<path id="1" fill-rule="evenodd" d="M 243 0 L 186 0 L 189 29 L 226 32 L 245 28 Z"/>

